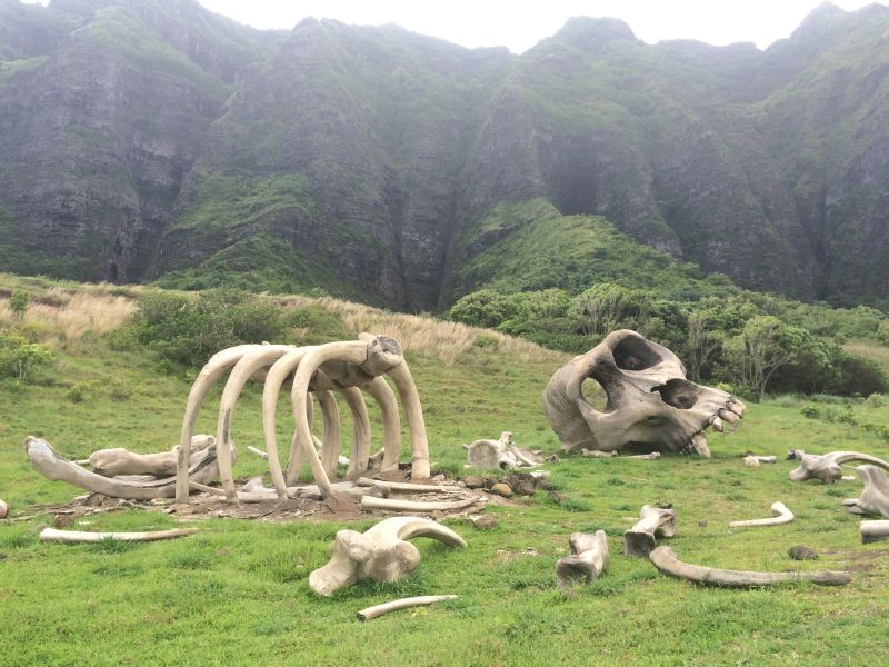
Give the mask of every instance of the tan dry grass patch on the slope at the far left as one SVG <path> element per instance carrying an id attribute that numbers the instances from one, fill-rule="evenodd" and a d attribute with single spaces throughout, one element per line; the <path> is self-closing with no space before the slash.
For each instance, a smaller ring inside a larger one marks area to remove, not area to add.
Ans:
<path id="1" fill-rule="evenodd" d="M 88 336 L 108 334 L 124 325 L 136 302 L 100 290 L 73 292 L 50 288 L 28 303 L 20 318 L 0 299 L 0 327 L 17 328 L 50 347 L 76 351 Z"/>

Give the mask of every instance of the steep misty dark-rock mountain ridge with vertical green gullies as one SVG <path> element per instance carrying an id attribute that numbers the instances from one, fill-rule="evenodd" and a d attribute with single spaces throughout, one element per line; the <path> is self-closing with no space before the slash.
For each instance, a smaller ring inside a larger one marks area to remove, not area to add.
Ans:
<path id="1" fill-rule="evenodd" d="M 572 19 L 513 56 L 191 0 L 0 0 L 0 269 L 417 310 L 525 223 L 481 229 L 492 207 L 546 199 L 745 287 L 889 300 L 882 6 L 822 6 L 766 51 Z"/>

